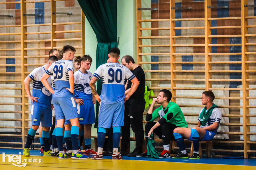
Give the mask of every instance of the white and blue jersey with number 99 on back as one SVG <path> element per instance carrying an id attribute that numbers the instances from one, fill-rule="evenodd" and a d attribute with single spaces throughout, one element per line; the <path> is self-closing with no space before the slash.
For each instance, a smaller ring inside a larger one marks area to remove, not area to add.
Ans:
<path id="1" fill-rule="evenodd" d="M 73 70 L 73 63 L 69 60 L 58 60 L 46 70 L 46 74 L 53 76 L 55 83 L 54 98 L 73 97 L 65 88 L 70 88 L 68 71 Z"/>

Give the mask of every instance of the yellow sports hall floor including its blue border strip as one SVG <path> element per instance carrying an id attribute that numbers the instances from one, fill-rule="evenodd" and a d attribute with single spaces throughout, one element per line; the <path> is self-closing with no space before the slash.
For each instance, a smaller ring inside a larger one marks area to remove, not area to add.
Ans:
<path id="1" fill-rule="evenodd" d="M 34 156 L 25 157 L 23 155 L 8 154 L 10 150 L 0 149 L 0 170 L 12 170 L 12 169 L 141 169 L 141 170 L 174 170 L 174 169 L 204 169 L 204 170 L 255 170 L 256 159 L 221 159 L 221 158 L 201 158 L 199 160 L 189 159 L 148 159 L 148 158 L 136 158 L 124 156 L 123 160 L 113 160 L 111 156 L 103 157 L 103 160 L 59 160 L 58 158 L 52 158 L 48 156 Z M 9 151 L 9 152 L 8 152 Z M 17 151 L 16 151 L 17 152 Z M 38 152 L 38 150 L 36 151 Z M 5 160 L 3 160 L 3 154 L 5 154 Z M 9 155 L 9 156 L 7 156 Z M 17 159 L 18 158 L 18 159 Z M 21 158 L 21 159 L 20 159 Z M 104 159 L 105 158 L 105 159 Z M 19 162 L 8 162 L 12 160 L 21 160 Z M 24 162 L 24 159 L 41 159 L 42 162 Z M 22 162 L 23 161 L 23 162 Z M 17 167 L 15 165 L 20 166 Z M 15 165 L 13 165 L 15 164 Z M 26 164 L 26 165 L 25 165 Z M 25 165 L 25 167 L 24 167 Z"/>

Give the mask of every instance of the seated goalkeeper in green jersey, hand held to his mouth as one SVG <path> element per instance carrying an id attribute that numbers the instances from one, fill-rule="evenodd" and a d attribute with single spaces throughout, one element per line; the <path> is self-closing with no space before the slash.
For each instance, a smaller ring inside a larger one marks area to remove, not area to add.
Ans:
<path id="1" fill-rule="evenodd" d="M 153 99 L 146 115 L 146 121 L 148 121 L 145 125 L 146 143 L 148 137 L 150 137 L 153 132 L 159 136 L 160 139 L 163 139 L 164 150 L 161 155 L 159 155 L 159 158 L 171 157 L 169 145 L 170 140 L 174 140 L 173 129 L 176 127 L 188 127 L 180 107 L 176 103 L 170 102 L 171 99 L 172 93 L 169 90 L 160 90 L 157 98 Z M 155 103 L 161 104 L 161 106 L 153 112 Z M 152 122 L 158 117 L 160 117 L 158 122 Z M 136 157 L 147 157 L 147 150 L 140 155 L 136 155 Z"/>

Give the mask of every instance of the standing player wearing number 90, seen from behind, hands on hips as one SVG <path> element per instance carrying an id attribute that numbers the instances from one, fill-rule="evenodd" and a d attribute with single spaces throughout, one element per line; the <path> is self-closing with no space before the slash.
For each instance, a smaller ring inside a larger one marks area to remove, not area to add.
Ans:
<path id="1" fill-rule="evenodd" d="M 92 159 L 102 159 L 102 149 L 106 136 L 106 128 L 113 126 L 113 155 L 112 160 L 120 160 L 123 157 L 118 153 L 121 136 L 121 126 L 124 126 L 124 102 L 130 98 L 139 85 L 139 81 L 125 66 L 118 63 L 120 50 L 116 47 L 109 52 L 110 63 L 100 65 L 90 81 L 93 95 L 100 103 L 98 152 Z M 95 83 L 101 79 L 101 95 L 97 93 Z M 133 83 L 131 90 L 125 96 L 124 80 Z"/>

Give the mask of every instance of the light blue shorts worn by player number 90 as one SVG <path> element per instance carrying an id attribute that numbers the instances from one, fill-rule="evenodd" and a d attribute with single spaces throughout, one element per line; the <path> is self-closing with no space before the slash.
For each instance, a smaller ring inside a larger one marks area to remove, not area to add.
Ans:
<path id="1" fill-rule="evenodd" d="M 99 110 L 99 127 L 110 128 L 124 126 L 124 101 L 114 104 L 101 102 Z"/>

